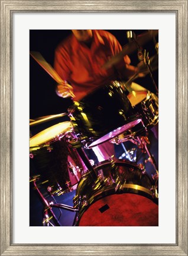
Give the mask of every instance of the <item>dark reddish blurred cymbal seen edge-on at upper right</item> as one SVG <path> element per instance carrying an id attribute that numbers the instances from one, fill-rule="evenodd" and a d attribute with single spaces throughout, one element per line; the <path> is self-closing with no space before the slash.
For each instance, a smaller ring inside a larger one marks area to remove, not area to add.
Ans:
<path id="1" fill-rule="evenodd" d="M 122 48 L 122 51 L 119 52 L 117 55 L 113 56 L 108 62 L 106 62 L 102 68 L 108 69 L 111 68 L 113 65 L 118 64 L 119 61 L 121 61 L 125 55 L 132 54 L 135 50 L 138 49 L 139 46 L 143 46 L 145 43 L 149 42 L 153 37 L 157 36 L 158 30 L 150 30 L 146 33 L 142 33 L 137 36 L 136 42 L 127 43 Z"/>

